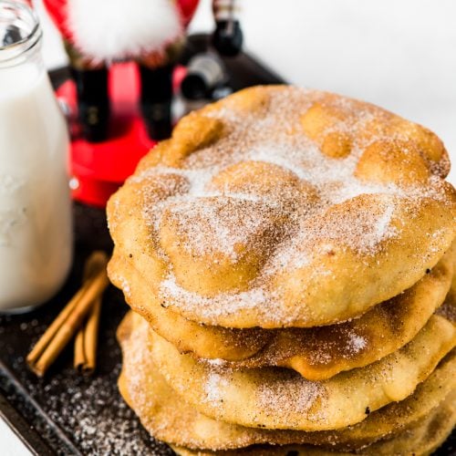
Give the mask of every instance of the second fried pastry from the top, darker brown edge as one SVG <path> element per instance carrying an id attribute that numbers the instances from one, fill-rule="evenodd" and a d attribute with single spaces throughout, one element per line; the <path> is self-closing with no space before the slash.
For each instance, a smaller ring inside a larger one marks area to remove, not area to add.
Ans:
<path id="1" fill-rule="evenodd" d="M 443 302 L 454 264 L 451 249 L 409 290 L 346 323 L 264 330 L 202 326 L 183 318 L 155 299 L 125 256 L 115 249 L 109 264 L 111 281 L 152 329 L 181 352 L 215 358 L 208 362 L 230 368 L 293 368 L 311 380 L 366 366 L 407 344 Z"/>

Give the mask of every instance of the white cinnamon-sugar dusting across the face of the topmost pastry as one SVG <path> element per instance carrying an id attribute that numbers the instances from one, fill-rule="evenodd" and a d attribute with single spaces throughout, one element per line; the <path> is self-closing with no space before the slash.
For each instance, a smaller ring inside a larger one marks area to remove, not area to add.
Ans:
<path id="1" fill-rule="evenodd" d="M 391 116 L 371 105 L 335 98 L 345 118 L 327 131 L 349 133 L 354 140 L 346 158 L 322 153 L 320 145 L 304 134 L 301 116 L 324 98 L 320 92 L 286 88 L 271 92 L 264 108 L 254 113 L 237 109 L 227 100 L 220 109 L 204 114 L 223 121 L 222 138 L 192 151 L 180 168 L 159 165 L 130 178 L 142 185 L 142 216 L 162 258 L 181 250 L 206 263 L 207 271 L 218 264 L 235 267 L 247 257 L 256 262 L 252 268 L 258 274 L 250 291 L 233 290 L 212 298 L 182 288 L 170 265 L 160 287 L 163 301 L 192 313 L 203 309 L 209 319 L 261 306 L 260 313 L 283 323 L 285 316 L 276 314 L 273 302 L 280 296 L 272 295 L 265 285 L 272 277 L 312 264 L 316 245 L 321 251 L 350 249 L 361 257 L 373 257 L 399 236 L 398 207 L 441 197 L 435 177 L 429 188 L 404 188 L 356 177 L 366 147 L 376 140 L 394 139 L 391 131 L 387 134 L 381 128 L 370 135 L 358 134 L 373 120 L 381 125 L 382 119 Z M 251 164 L 233 171 L 245 161 L 270 166 L 260 175 L 248 173 Z M 223 181 L 226 172 L 233 173 L 232 179 Z M 279 174 L 285 177 L 278 178 Z M 148 198 L 148 192 L 153 197 Z M 331 274 L 323 266 L 317 272 Z"/>

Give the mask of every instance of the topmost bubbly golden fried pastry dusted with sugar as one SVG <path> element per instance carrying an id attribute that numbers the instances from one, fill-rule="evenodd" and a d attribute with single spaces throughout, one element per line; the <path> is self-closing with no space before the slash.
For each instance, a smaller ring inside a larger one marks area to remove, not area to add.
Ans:
<path id="1" fill-rule="evenodd" d="M 109 226 L 181 316 L 329 325 L 409 288 L 450 247 L 447 168 L 435 135 L 384 109 L 250 88 L 182 119 L 111 198 Z"/>

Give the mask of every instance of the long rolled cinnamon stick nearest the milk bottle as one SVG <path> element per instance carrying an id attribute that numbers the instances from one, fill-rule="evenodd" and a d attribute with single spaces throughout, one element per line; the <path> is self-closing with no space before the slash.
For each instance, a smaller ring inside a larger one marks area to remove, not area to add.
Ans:
<path id="1" fill-rule="evenodd" d="M 86 264 L 88 279 L 47 328 L 43 337 L 26 358 L 26 362 L 37 376 L 42 377 L 54 362 L 67 342 L 74 336 L 85 316 L 109 284 L 106 274 L 108 257 L 102 252 L 90 255 Z"/>

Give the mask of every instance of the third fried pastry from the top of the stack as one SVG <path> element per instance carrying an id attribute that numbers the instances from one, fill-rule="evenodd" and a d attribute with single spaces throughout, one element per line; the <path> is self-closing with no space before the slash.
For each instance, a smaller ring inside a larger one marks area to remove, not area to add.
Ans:
<path id="1" fill-rule="evenodd" d="M 455 326 L 431 316 L 408 345 L 388 357 L 327 380 L 309 381 L 289 369 L 210 368 L 150 333 L 153 362 L 195 409 L 214 420 L 292 430 L 340 429 L 365 420 L 367 409 L 407 398 L 456 341 Z"/>

